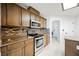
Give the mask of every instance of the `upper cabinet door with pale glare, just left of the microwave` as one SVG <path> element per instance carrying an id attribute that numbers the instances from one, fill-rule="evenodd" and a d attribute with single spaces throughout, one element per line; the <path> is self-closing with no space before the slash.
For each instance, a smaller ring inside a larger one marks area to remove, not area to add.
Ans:
<path id="1" fill-rule="evenodd" d="M 22 9 L 22 26 L 30 26 L 30 12 L 26 9 Z"/>

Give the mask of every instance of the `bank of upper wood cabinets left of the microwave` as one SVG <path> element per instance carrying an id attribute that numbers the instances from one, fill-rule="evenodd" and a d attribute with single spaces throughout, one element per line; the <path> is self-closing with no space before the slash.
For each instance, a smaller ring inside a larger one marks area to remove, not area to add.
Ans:
<path id="1" fill-rule="evenodd" d="M 30 12 L 12 3 L 1 4 L 2 26 L 30 26 Z"/>

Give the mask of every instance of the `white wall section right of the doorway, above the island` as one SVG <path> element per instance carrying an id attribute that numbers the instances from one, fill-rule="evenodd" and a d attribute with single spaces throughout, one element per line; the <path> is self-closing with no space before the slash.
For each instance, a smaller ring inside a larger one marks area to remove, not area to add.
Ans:
<path id="1" fill-rule="evenodd" d="M 75 17 L 65 16 L 61 20 L 61 31 L 64 29 L 65 36 L 74 36 Z"/>

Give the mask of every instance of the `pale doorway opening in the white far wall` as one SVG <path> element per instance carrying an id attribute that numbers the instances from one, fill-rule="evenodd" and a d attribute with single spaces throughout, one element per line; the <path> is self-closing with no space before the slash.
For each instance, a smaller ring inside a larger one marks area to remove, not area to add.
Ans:
<path id="1" fill-rule="evenodd" d="M 52 22 L 52 37 L 56 39 L 56 41 L 60 42 L 60 21 L 55 20 Z"/>

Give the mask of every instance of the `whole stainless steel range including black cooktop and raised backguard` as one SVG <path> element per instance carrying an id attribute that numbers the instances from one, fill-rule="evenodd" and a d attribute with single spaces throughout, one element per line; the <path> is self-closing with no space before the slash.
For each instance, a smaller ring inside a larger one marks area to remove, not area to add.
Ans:
<path id="1" fill-rule="evenodd" d="M 44 36 L 42 34 L 37 34 L 34 30 L 29 30 L 28 35 L 34 37 L 34 53 L 38 55 L 44 47 Z"/>

